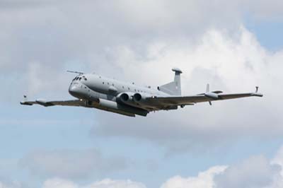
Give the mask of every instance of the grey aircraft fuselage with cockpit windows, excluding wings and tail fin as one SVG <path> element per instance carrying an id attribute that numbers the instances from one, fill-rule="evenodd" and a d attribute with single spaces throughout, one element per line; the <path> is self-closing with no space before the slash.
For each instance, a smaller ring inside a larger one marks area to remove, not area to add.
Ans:
<path id="1" fill-rule="evenodd" d="M 99 104 L 102 102 L 115 102 L 112 104 L 116 105 L 117 103 L 118 108 L 122 108 L 124 103 L 125 105 L 129 105 L 127 107 L 125 106 L 126 109 L 129 108 L 129 112 L 134 112 L 137 110 L 139 111 L 139 109 L 141 109 L 141 113 L 135 113 L 140 115 L 147 114 L 147 112 L 144 110 L 161 110 L 160 108 L 162 106 L 154 104 L 155 102 L 152 102 L 152 105 L 139 105 L 139 103 L 135 103 L 128 98 L 126 99 L 128 101 L 127 102 L 126 100 L 120 99 L 121 93 L 127 93 L 129 98 L 133 98 L 135 93 L 140 93 L 141 95 L 150 97 L 170 96 L 168 93 L 164 93 L 161 90 L 154 89 L 149 86 L 136 86 L 134 83 L 117 81 L 115 79 L 99 76 L 97 74 L 81 74 L 80 76 L 74 78 L 69 86 L 69 93 L 75 98 L 87 101 L 89 107 L 94 105 L 95 107 L 100 108 Z M 138 109 L 134 109 L 133 107 L 137 107 Z M 105 110 L 103 108 L 100 109 Z M 125 111 L 127 111 L 126 109 Z M 108 110 L 111 111 L 110 109 Z"/>

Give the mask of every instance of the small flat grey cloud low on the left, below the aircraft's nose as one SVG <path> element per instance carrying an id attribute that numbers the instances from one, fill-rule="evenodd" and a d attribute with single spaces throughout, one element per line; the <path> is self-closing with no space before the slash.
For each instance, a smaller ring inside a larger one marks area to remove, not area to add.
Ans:
<path id="1" fill-rule="evenodd" d="M 120 157 L 105 157 L 96 149 L 34 151 L 19 161 L 32 175 L 85 179 L 123 170 L 127 161 Z"/>

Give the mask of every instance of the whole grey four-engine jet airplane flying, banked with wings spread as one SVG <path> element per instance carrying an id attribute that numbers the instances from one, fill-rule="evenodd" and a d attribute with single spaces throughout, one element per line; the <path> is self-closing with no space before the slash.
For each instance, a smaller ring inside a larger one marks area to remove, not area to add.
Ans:
<path id="1" fill-rule="evenodd" d="M 263 96 L 258 93 L 258 86 L 255 87 L 254 93 L 224 94 L 221 90 L 210 91 L 209 84 L 205 93 L 182 96 L 180 74 L 183 72 L 178 68 L 173 68 L 172 71 L 175 72 L 174 80 L 157 88 L 136 86 L 134 83 L 117 81 L 98 74 L 69 71 L 77 74 L 69 86 L 69 94 L 76 98 L 75 100 L 28 101 L 24 95 L 21 105 L 91 107 L 129 117 L 146 117 L 149 112 L 177 110 L 178 107 L 183 108 L 199 102 L 209 102 L 209 105 L 212 105 L 212 101 L 216 100 Z"/>

